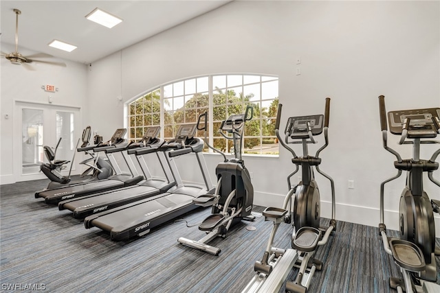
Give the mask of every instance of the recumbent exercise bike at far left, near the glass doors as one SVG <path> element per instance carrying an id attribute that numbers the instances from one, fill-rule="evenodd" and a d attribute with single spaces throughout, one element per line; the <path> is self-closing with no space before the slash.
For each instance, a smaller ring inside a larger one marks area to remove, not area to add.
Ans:
<path id="1" fill-rule="evenodd" d="M 56 143 L 55 150 L 52 150 L 52 148 L 50 148 L 50 146 L 48 145 L 45 145 L 43 147 L 45 156 L 47 157 L 49 163 L 41 164 L 40 170 L 41 172 L 43 172 L 43 174 L 45 174 L 45 176 L 47 176 L 47 178 L 51 180 L 51 182 L 47 186 L 47 189 L 54 189 L 76 183 L 86 183 L 93 180 L 100 180 L 107 178 L 113 174 L 113 169 L 109 163 L 101 159 L 98 156 L 98 154 L 94 154 L 89 151 L 89 147 L 87 146 L 89 145 L 90 137 L 91 137 L 91 127 L 87 126 L 87 128 L 83 130 L 83 137 L 81 139 L 78 139 L 75 148 L 77 152 L 85 152 L 85 154 L 88 154 L 90 156 L 89 159 L 80 162 L 80 165 L 87 165 L 88 167 L 80 175 L 81 177 L 87 176 L 87 179 L 85 180 L 72 181 L 70 178 L 72 173 L 72 167 L 74 165 L 76 152 L 74 152 L 74 156 L 72 157 L 72 162 L 65 160 L 56 160 L 56 151 L 58 150 L 61 140 L 63 139 L 62 137 L 58 139 L 58 143 Z M 83 141 L 83 144 L 80 145 L 80 147 L 78 148 L 80 140 Z M 63 169 L 67 167 L 66 165 L 68 163 L 71 163 L 69 174 L 67 174 L 67 176 L 64 176 L 63 174 L 61 174 L 61 172 L 63 171 Z"/>

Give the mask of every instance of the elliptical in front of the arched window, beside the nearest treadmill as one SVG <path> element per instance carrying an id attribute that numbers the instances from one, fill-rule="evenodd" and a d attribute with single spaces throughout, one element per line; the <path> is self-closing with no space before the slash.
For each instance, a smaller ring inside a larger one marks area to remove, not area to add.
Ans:
<path id="1" fill-rule="evenodd" d="M 219 133 L 234 143 L 234 158 L 230 160 L 226 159 L 223 152 L 208 143 L 206 134 L 208 130 L 208 113 L 199 116 L 197 129 L 204 130 L 205 143 L 210 149 L 222 154 L 224 162 L 219 163 L 215 169 L 217 186 L 215 187 L 214 194 L 206 194 L 192 200 L 192 202 L 201 207 L 212 206 L 212 214 L 199 225 L 199 230 L 206 231 L 208 234 L 199 241 L 179 237 L 177 241 L 181 244 L 212 255 L 219 255 L 221 249 L 208 245 L 208 242 L 216 237 L 226 237 L 226 233 L 228 233 L 231 226 L 234 226 L 241 220 L 255 220 L 255 217 L 251 215 L 254 202 L 254 187 L 252 187 L 250 174 L 241 157 L 245 122 L 252 120 L 253 116 L 254 108 L 247 106 L 244 114 L 231 115 L 221 123 Z M 200 128 L 199 125 L 202 117 L 205 118 L 205 124 Z M 232 137 L 229 137 L 224 132 L 232 134 Z"/>

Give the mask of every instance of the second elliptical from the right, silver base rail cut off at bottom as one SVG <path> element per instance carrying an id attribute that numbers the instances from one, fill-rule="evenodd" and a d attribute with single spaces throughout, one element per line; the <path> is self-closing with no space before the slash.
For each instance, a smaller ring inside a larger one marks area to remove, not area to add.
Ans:
<path id="1" fill-rule="evenodd" d="M 314 259 L 318 246 L 327 244 L 329 236 L 336 231 L 336 202 L 333 179 L 319 169 L 321 159 L 319 154 L 329 144 L 328 128 L 330 113 L 330 98 L 327 97 L 325 115 L 309 115 L 290 117 L 285 128 L 285 138 L 281 138 L 279 125 L 281 120 L 282 104 L 278 105 L 275 132 L 281 145 L 292 153 L 292 163 L 296 165 L 294 172 L 287 176 L 289 192 L 285 197 L 283 208 L 267 207 L 263 211 L 265 221 L 272 221 L 272 232 L 261 261 L 256 261 L 256 274 L 242 292 L 278 292 L 286 283 L 287 292 L 307 292 L 311 278 L 316 270 L 321 270 L 322 262 Z M 309 156 L 308 143 L 317 143 L 316 135 L 324 132 L 325 144 Z M 300 141 L 296 140 L 299 139 Z M 303 156 L 297 156 L 288 144 L 301 143 Z M 290 179 L 301 167 L 302 180 L 293 186 Z M 314 168 L 331 183 L 331 220 L 328 227 L 320 226 L 320 194 L 318 184 L 314 178 Z M 294 201 L 292 216 L 292 201 Z M 282 223 L 292 223 L 292 248 L 283 249 L 273 247 L 278 226 Z M 286 281 L 292 268 L 299 268 L 294 281 Z"/>

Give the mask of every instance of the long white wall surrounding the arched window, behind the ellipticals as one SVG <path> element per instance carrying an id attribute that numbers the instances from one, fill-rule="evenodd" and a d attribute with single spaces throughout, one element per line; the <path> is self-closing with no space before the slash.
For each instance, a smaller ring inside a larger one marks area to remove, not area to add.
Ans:
<path id="1" fill-rule="evenodd" d="M 124 125 L 124 102 L 173 80 L 210 73 L 278 75 L 282 125 L 289 116 L 323 113 L 325 97 L 332 98 L 330 145 L 321 153 L 321 169 L 336 183 L 336 218 L 377 226 L 380 183 L 395 174 L 395 158 L 382 148 L 377 96 L 386 96 L 387 110 L 440 106 L 439 11 L 438 1 L 234 1 L 94 62 L 87 69 L 90 111 L 84 125 L 110 137 Z M 397 146 L 394 137 L 389 142 L 410 156 L 408 146 Z M 428 159 L 435 148 L 423 147 Z M 279 158 L 245 157 L 256 204 L 281 205 L 290 159 L 285 150 Z M 206 161 L 214 178 L 221 157 L 207 155 Z M 177 163 L 187 162 L 195 158 Z M 197 173 L 185 172 L 184 179 L 201 182 Z M 347 188 L 348 180 L 355 189 Z M 322 215 L 329 217 L 329 184 L 319 175 L 318 183 Z M 403 177 L 387 185 L 389 228 L 397 228 L 403 186 Z M 428 180 L 425 187 L 430 196 L 439 195 Z"/>

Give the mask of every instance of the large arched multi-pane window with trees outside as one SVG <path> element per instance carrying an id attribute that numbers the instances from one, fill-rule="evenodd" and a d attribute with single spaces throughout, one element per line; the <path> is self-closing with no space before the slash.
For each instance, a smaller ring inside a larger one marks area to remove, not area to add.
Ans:
<path id="1" fill-rule="evenodd" d="M 197 122 L 208 112 L 208 139 L 223 152 L 232 143 L 218 133 L 221 121 L 254 107 L 254 119 L 246 123 L 244 154 L 278 154 L 274 125 L 278 108 L 278 77 L 254 74 L 206 75 L 159 86 L 128 105 L 130 139 L 141 139 L 144 126 L 161 126 L 164 139 L 175 137 L 181 124 Z M 203 137 L 203 132 L 197 133 Z M 210 150 L 209 150 L 210 151 Z M 208 148 L 206 148 L 208 152 Z"/>

